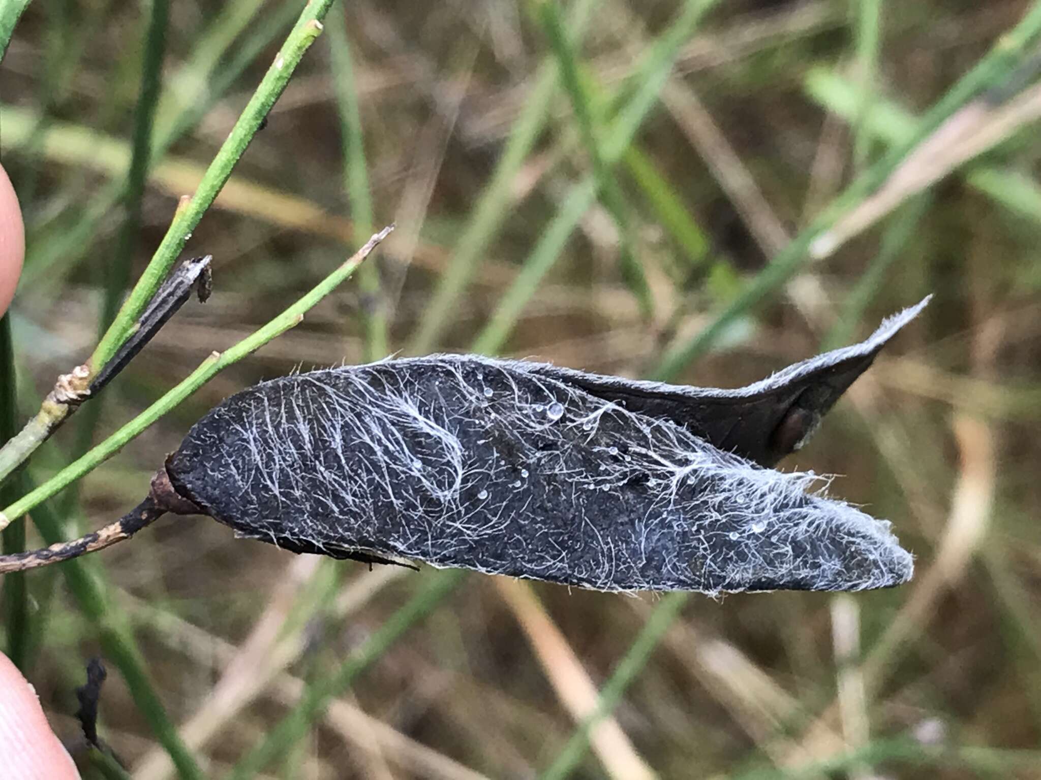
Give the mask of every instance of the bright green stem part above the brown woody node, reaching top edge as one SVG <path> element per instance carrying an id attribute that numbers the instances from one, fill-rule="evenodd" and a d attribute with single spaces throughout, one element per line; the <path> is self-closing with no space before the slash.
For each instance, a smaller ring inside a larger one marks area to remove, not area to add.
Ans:
<path id="1" fill-rule="evenodd" d="M 170 268 L 184 246 L 184 242 L 210 204 L 213 203 L 228 177 L 231 176 L 232 168 L 253 139 L 263 118 L 268 115 L 275 101 L 285 89 L 289 77 L 300 63 L 304 53 L 321 34 L 322 24 L 319 20 L 325 17 L 331 3 L 332 0 L 312 0 L 304 7 L 296 26 L 275 56 L 275 61 L 268 69 L 268 73 L 264 74 L 260 85 L 246 108 L 243 109 L 228 138 L 221 146 L 209 167 L 206 168 L 196 193 L 185 208 L 178 210 L 170 230 L 163 236 L 145 272 L 137 280 L 137 284 L 134 285 L 130 295 L 123 304 L 116 320 L 95 348 L 90 362 L 94 371 L 107 363 L 120 345 L 126 341 L 134 322 L 137 321 L 148 302 L 152 300 L 152 295 L 155 294 L 156 289 L 170 272 Z"/>

